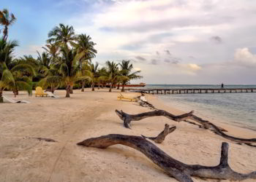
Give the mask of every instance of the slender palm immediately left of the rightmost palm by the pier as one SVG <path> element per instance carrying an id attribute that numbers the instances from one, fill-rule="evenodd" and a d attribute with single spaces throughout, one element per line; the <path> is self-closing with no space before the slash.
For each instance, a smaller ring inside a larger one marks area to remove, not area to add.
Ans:
<path id="1" fill-rule="evenodd" d="M 118 64 L 114 63 L 113 61 L 110 62 L 109 60 L 106 62 L 107 70 L 108 70 L 108 82 L 110 83 L 110 89 L 109 92 L 112 91 L 113 84 L 117 82 L 119 79 L 119 69 Z"/>

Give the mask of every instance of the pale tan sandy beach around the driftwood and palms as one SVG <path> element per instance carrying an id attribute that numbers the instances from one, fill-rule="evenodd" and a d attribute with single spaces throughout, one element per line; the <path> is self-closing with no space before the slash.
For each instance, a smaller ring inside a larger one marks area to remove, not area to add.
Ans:
<path id="1" fill-rule="evenodd" d="M 13 98 L 12 92 L 4 95 Z M 71 98 L 64 98 L 64 90 L 57 90 L 56 95 L 60 98 L 35 98 L 20 92 L 13 99 L 31 103 L 0 105 L 0 181 L 176 181 L 139 151 L 127 146 L 94 149 L 76 145 L 86 138 L 110 133 L 155 136 L 165 123 L 176 125 L 177 130 L 157 146 L 171 157 L 187 164 L 217 165 L 221 143 L 226 141 L 230 143 L 229 163 L 233 170 L 241 173 L 256 170 L 256 148 L 227 141 L 192 124 L 161 116 L 132 122 L 132 130 L 124 128 L 115 109 L 129 114 L 150 110 L 138 103 L 116 100 L 117 90 L 75 90 Z M 183 113 L 165 106 L 156 97 L 147 95 L 146 98 L 157 108 Z M 215 124 L 225 127 L 230 135 L 256 138 L 251 130 L 221 121 Z M 33 137 L 58 142 L 38 141 Z"/>

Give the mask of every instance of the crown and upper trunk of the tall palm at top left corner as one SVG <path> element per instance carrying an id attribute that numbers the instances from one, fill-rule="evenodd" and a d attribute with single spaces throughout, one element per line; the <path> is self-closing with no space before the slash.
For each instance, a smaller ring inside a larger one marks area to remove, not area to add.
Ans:
<path id="1" fill-rule="evenodd" d="M 0 11 L 0 24 L 4 25 L 4 40 L 7 40 L 8 37 L 8 27 L 15 23 L 16 17 L 9 13 L 7 9 L 3 9 L 3 11 Z"/>

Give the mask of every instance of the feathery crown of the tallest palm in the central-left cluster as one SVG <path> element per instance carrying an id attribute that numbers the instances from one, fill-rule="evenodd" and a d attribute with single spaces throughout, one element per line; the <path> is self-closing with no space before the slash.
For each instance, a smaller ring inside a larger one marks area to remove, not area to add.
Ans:
<path id="1" fill-rule="evenodd" d="M 61 47 L 67 46 L 67 43 L 73 44 L 76 39 L 74 28 L 62 23 L 48 33 L 48 38 L 47 43 L 53 43 Z"/>

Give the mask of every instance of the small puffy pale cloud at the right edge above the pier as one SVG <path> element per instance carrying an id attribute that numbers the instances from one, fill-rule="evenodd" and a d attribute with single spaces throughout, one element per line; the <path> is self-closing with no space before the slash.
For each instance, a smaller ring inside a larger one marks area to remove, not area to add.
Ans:
<path id="1" fill-rule="evenodd" d="M 256 66 L 256 55 L 249 52 L 247 47 L 237 49 L 234 55 L 234 62 L 239 66 L 255 67 Z"/>

